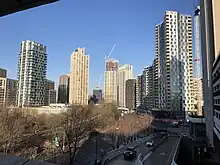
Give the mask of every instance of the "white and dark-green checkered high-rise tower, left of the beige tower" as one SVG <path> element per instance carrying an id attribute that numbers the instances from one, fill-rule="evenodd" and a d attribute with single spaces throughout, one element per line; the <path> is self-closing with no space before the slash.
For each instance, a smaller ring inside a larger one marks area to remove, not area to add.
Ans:
<path id="1" fill-rule="evenodd" d="M 44 105 L 46 70 L 46 46 L 22 41 L 18 60 L 19 107 Z"/>

